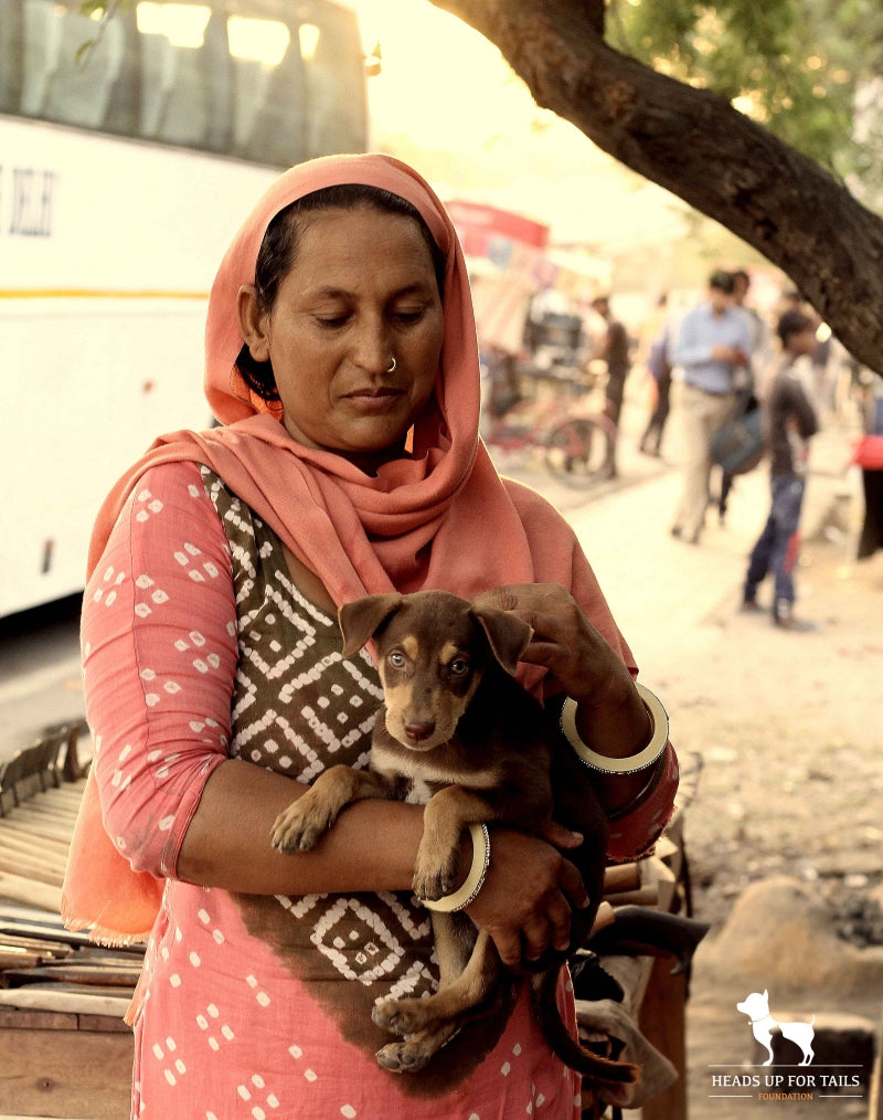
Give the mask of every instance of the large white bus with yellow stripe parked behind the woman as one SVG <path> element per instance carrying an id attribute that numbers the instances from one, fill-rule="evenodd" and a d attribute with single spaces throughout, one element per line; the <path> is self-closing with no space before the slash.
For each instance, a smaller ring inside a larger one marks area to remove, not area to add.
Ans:
<path id="1" fill-rule="evenodd" d="M 344 4 L 143 0 L 97 26 L 0 0 L 0 617 L 81 589 L 115 478 L 210 423 L 208 288 L 263 186 L 367 144 Z"/>

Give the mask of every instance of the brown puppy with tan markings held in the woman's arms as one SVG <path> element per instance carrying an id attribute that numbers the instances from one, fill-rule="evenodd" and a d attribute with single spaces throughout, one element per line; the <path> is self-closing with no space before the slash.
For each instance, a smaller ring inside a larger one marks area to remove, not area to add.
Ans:
<path id="1" fill-rule="evenodd" d="M 424 804 L 413 888 L 434 900 L 458 886 L 463 832 L 498 822 L 541 834 L 553 819 L 577 829 L 576 864 L 590 905 L 574 909 L 571 949 L 592 926 L 603 892 L 607 823 L 585 769 L 548 713 L 514 680 L 532 629 L 494 607 L 444 591 L 373 595 L 339 613 L 344 655 L 372 637 L 385 703 L 377 713 L 370 769 L 332 766 L 281 813 L 280 851 L 316 846 L 345 805 L 363 797 Z M 388 999 L 373 1018 L 404 1036 L 377 1054 L 394 1071 L 420 1070 L 470 1018 L 487 1014 L 500 982 L 492 941 L 462 912 L 433 911 L 440 986 L 429 999 Z M 553 1051 L 595 1084 L 637 1079 L 635 1066 L 583 1049 L 561 1020 L 555 987 L 565 952 L 529 963 L 534 1012 Z"/>

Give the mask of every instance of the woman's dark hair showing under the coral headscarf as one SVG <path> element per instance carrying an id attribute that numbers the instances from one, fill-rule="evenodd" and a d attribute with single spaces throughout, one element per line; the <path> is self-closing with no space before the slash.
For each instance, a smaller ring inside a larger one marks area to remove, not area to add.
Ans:
<path id="1" fill-rule="evenodd" d="M 266 227 L 254 267 L 255 298 L 262 312 L 273 309 L 279 286 L 294 267 L 300 239 L 307 227 L 307 215 L 316 211 L 357 209 L 359 206 L 368 206 L 383 214 L 408 217 L 417 223 L 432 256 L 439 295 L 444 296 L 444 253 L 435 244 L 416 206 L 381 187 L 346 183 L 336 187 L 323 187 L 321 190 L 313 190 L 298 198 L 281 209 Z M 236 358 L 236 368 L 248 389 L 262 400 L 279 400 L 279 390 L 270 361 L 255 361 L 247 345 L 244 345 Z"/>

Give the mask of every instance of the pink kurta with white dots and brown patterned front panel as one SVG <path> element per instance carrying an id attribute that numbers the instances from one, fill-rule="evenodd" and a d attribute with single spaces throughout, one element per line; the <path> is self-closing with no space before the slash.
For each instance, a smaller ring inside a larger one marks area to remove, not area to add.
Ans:
<path id="1" fill-rule="evenodd" d="M 436 1070 L 378 1068 L 391 1036 L 373 1002 L 435 983 L 429 917 L 406 893 L 263 898 L 175 878 L 206 780 L 229 756 L 303 782 L 365 764 L 379 688 L 367 655 L 339 648 L 278 539 L 207 468 L 143 475 L 83 617 L 105 828 L 135 869 L 167 879 L 138 996 L 132 1117 L 574 1120 L 579 1079 L 524 992 Z M 657 838 L 676 781 L 669 748 L 651 799 L 616 825 L 617 858 Z M 560 997 L 572 1024 L 564 981 Z"/>

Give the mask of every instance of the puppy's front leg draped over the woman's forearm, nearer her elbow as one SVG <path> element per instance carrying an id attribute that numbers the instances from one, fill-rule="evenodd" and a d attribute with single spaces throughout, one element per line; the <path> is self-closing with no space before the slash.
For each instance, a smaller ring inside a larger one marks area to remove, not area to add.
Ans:
<path id="1" fill-rule="evenodd" d="M 331 766 L 273 822 L 270 839 L 276 851 L 311 851 L 345 805 L 366 797 L 388 796 L 386 782 L 372 771 Z"/>

